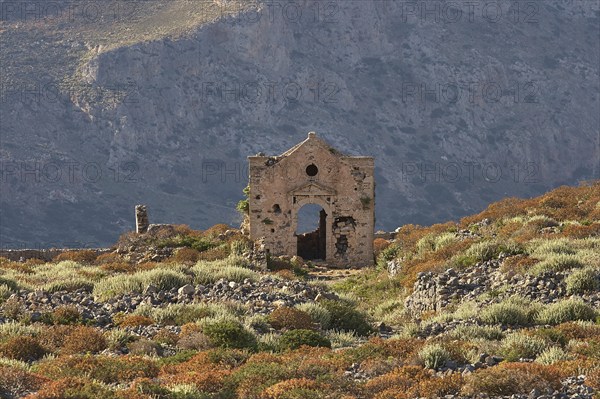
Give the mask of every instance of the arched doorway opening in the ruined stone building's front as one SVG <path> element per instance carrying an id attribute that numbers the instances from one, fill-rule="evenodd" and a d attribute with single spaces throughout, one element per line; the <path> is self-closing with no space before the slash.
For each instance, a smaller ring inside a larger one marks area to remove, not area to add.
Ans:
<path id="1" fill-rule="evenodd" d="M 306 260 L 327 257 L 327 213 L 317 204 L 306 204 L 298 210 L 296 237 L 297 255 Z"/>

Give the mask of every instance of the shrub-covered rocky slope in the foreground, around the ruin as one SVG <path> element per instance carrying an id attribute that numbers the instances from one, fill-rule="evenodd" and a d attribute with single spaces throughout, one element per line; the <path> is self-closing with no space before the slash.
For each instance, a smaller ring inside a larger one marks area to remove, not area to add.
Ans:
<path id="1" fill-rule="evenodd" d="M 598 397 L 600 181 L 374 244 L 376 267 L 327 270 L 154 225 L 0 258 L 0 396 Z"/>

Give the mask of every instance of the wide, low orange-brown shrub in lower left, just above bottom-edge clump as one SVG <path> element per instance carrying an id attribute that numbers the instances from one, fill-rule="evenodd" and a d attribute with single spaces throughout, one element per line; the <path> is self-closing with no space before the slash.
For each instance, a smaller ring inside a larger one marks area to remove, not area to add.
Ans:
<path id="1" fill-rule="evenodd" d="M 37 367 L 39 374 L 53 380 L 87 377 L 106 384 L 130 382 L 142 377 L 155 378 L 159 371 L 154 361 L 139 356 L 61 356 L 41 361 Z"/>

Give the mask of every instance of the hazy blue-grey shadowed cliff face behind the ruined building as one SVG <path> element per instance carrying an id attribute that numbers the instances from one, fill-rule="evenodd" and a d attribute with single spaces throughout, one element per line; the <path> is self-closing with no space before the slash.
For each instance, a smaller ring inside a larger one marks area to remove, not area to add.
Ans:
<path id="1" fill-rule="evenodd" d="M 310 130 L 376 158 L 384 229 L 598 177 L 596 2 L 136 4 L 108 39 L 4 13 L 3 246 L 236 224 L 245 157 Z"/>

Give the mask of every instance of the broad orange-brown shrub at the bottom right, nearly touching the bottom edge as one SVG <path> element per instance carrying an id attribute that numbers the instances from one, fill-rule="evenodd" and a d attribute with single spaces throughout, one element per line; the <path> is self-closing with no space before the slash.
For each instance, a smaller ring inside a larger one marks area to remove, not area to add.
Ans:
<path id="1" fill-rule="evenodd" d="M 560 387 L 561 373 L 553 366 L 536 363 L 501 363 L 496 367 L 477 370 L 465 379 L 462 393 L 475 395 L 527 394 L 532 389 Z"/>

